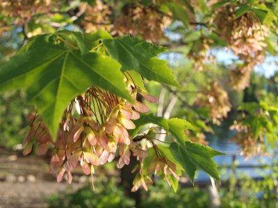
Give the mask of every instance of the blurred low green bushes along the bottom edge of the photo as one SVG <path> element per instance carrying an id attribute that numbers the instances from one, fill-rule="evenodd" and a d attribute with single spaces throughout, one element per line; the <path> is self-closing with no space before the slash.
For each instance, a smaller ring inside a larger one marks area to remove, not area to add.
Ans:
<path id="1" fill-rule="evenodd" d="M 277 207 L 277 166 L 273 162 L 270 174 L 263 180 L 255 181 L 246 174 L 238 177 L 229 173 L 218 186 L 222 207 Z M 234 162 L 236 168 L 237 162 Z M 270 165 L 271 166 L 271 165 Z M 267 167 L 265 167 L 267 168 Z M 222 167 L 222 173 L 227 169 Z M 259 171 L 259 170 L 258 170 Z M 89 182 L 88 182 L 89 183 Z M 276 188 L 275 188 L 276 187 Z M 49 207 L 136 207 L 133 198 L 125 196 L 124 189 L 115 177 L 98 177 L 95 192 L 90 184 L 77 191 L 64 191 L 46 198 Z M 198 187 L 179 187 L 172 191 L 162 180 L 156 180 L 149 191 L 142 194 L 142 203 L 138 207 L 211 207 L 207 189 Z"/>

